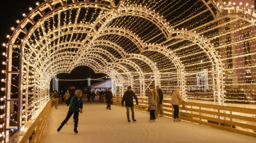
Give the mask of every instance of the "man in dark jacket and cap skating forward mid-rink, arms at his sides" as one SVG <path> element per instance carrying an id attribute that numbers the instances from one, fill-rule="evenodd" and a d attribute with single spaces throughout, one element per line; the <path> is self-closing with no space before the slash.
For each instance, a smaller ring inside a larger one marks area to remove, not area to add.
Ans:
<path id="1" fill-rule="evenodd" d="M 130 113 L 129 111 L 132 111 L 132 117 L 133 121 L 136 121 L 134 118 L 134 108 L 133 108 L 133 97 L 136 100 L 136 104 L 138 105 L 138 99 L 135 95 L 135 93 L 132 91 L 132 87 L 128 87 L 128 90 L 123 94 L 123 99 L 122 99 L 122 106 L 123 106 L 123 101 L 126 101 L 126 114 L 127 114 L 127 119 L 128 122 L 130 122 Z"/>

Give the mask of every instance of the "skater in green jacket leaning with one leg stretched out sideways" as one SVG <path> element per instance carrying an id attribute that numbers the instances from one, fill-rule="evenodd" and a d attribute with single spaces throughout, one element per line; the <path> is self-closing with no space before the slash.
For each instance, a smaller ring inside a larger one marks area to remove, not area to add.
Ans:
<path id="1" fill-rule="evenodd" d="M 71 99 L 71 104 L 69 106 L 68 115 L 66 116 L 65 120 L 63 120 L 63 122 L 61 123 L 61 125 L 57 129 L 58 132 L 61 130 L 61 128 L 63 128 L 63 125 L 65 125 L 68 122 L 69 118 L 71 118 L 71 116 L 74 113 L 74 120 L 75 120 L 74 132 L 78 133 L 78 130 L 77 130 L 77 128 L 78 128 L 78 116 L 79 116 L 79 113 L 83 113 L 82 94 L 83 94 L 82 90 L 80 90 L 80 89 L 76 90 L 75 96 L 73 96 L 72 99 Z"/>

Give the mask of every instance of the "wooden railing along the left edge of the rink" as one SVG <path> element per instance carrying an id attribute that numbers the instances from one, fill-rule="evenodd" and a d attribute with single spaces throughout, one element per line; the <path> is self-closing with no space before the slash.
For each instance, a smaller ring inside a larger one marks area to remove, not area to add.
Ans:
<path id="1" fill-rule="evenodd" d="M 41 141 L 44 127 L 47 123 L 47 118 L 51 110 L 51 98 L 44 104 L 42 110 L 38 110 L 34 113 L 30 120 L 25 123 L 8 141 L 8 143 L 14 142 L 37 142 Z"/>

